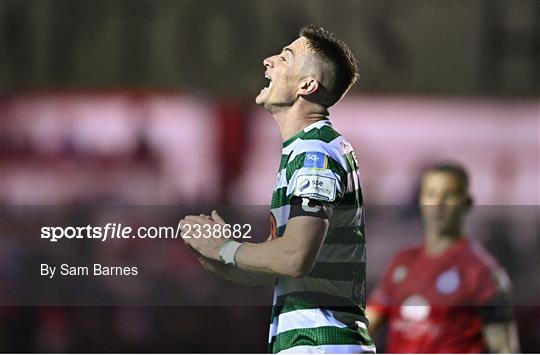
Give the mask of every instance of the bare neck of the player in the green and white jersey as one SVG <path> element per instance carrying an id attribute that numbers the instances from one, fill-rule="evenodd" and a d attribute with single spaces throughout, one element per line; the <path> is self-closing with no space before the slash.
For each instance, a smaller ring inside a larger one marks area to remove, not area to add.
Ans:
<path id="1" fill-rule="evenodd" d="M 274 112 L 272 116 L 276 120 L 283 142 L 295 136 L 310 124 L 327 119 L 328 111 L 306 110 L 299 105 L 282 107 Z"/>

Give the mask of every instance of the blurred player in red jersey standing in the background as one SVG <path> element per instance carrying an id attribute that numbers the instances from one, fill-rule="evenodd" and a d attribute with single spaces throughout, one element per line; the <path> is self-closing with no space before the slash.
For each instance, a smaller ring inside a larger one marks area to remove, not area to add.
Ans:
<path id="1" fill-rule="evenodd" d="M 422 178 L 425 241 L 398 252 L 368 300 L 369 330 L 389 322 L 396 353 L 519 352 L 505 271 L 462 237 L 472 205 L 466 171 L 435 165 Z"/>

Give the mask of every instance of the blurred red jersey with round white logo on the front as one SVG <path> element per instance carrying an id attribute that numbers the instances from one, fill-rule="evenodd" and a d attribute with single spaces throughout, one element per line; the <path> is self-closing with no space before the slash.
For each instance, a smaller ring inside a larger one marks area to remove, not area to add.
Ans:
<path id="1" fill-rule="evenodd" d="M 388 318 L 388 352 L 482 353 L 479 310 L 509 289 L 495 260 L 477 242 L 459 239 L 434 257 L 424 245 L 397 253 L 368 307 Z"/>

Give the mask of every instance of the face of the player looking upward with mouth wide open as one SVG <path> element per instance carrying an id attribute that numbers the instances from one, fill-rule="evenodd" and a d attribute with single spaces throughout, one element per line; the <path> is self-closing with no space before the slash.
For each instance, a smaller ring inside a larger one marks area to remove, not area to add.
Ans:
<path id="1" fill-rule="evenodd" d="M 272 112 L 275 108 L 290 106 L 298 99 L 300 81 L 303 79 L 302 69 L 310 53 L 308 41 L 304 37 L 283 48 L 283 50 L 266 58 L 265 77 L 270 80 L 263 88 L 255 102 Z"/>

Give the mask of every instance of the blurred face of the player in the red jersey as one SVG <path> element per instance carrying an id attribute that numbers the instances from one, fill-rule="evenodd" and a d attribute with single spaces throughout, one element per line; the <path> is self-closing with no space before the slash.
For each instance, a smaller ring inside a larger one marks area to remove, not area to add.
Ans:
<path id="1" fill-rule="evenodd" d="M 468 210 L 468 193 L 460 180 L 445 172 L 424 176 L 420 191 L 420 207 L 427 228 L 439 233 L 460 229 Z"/>

